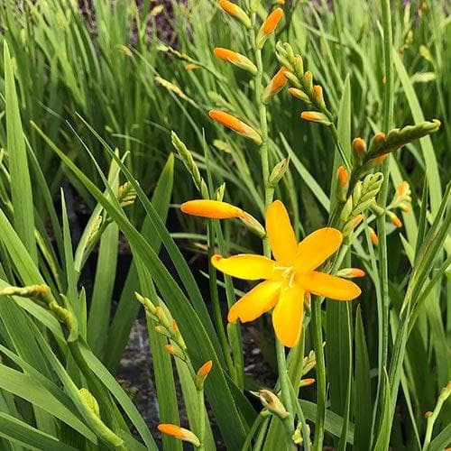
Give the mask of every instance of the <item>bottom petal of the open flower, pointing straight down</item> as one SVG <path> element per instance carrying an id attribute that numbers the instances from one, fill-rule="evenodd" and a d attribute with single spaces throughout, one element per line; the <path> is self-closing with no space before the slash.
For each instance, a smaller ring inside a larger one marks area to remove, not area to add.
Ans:
<path id="1" fill-rule="evenodd" d="M 277 338 L 288 347 L 299 341 L 304 313 L 304 290 L 299 283 L 283 287 L 272 311 L 272 325 Z"/>

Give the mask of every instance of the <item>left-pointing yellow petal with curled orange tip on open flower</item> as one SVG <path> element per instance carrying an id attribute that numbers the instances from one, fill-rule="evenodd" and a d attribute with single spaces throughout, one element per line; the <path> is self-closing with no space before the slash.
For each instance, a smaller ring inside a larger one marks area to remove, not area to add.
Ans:
<path id="1" fill-rule="evenodd" d="M 211 262 L 216 270 L 248 281 L 271 279 L 276 263 L 262 255 L 252 253 L 239 253 L 228 258 L 213 255 Z"/>

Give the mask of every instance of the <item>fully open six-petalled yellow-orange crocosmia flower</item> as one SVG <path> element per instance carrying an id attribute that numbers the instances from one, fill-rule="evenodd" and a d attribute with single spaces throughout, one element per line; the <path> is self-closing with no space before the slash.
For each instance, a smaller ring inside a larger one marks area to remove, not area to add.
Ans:
<path id="1" fill-rule="evenodd" d="M 264 279 L 230 308 L 229 322 L 253 321 L 274 308 L 272 325 L 276 336 L 283 345 L 293 347 L 299 341 L 306 293 L 351 300 L 361 290 L 352 281 L 315 271 L 340 247 L 343 236 L 339 230 L 318 229 L 298 244 L 287 210 L 276 200 L 266 213 L 266 233 L 274 260 L 253 254 L 229 258 L 214 255 L 212 263 L 217 270 L 233 277 Z"/>

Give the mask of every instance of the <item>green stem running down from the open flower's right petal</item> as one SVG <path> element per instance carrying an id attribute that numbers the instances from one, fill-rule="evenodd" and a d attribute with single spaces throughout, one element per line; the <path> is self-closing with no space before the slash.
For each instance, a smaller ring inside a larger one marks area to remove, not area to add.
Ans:
<path id="1" fill-rule="evenodd" d="M 313 344 L 317 359 L 317 419 L 315 422 L 313 450 L 321 451 L 323 449 L 326 418 L 326 363 L 324 360 L 323 331 L 321 328 L 321 298 L 313 296 L 311 303 Z"/>

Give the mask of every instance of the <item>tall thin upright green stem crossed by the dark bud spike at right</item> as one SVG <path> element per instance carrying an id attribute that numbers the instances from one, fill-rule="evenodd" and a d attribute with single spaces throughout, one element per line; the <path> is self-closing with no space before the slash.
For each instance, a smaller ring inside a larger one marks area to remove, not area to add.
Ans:
<path id="1" fill-rule="evenodd" d="M 393 123 L 393 57 L 392 57 L 392 32 L 391 32 L 391 8 L 390 0 L 382 0 L 382 27 L 383 27 L 383 54 L 385 66 L 385 87 L 383 95 L 383 124 L 385 133 L 390 130 Z M 385 208 L 389 189 L 389 159 L 382 163 L 383 182 L 379 193 L 378 204 Z M 382 414 L 382 391 L 379 390 L 382 383 L 383 369 L 387 367 L 389 347 L 389 279 L 388 279 L 388 255 L 387 237 L 385 230 L 385 216 L 377 217 L 377 230 L 379 235 L 379 279 L 381 281 L 381 308 L 382 308 L 382 336 L 380 337 L 381 352 L 379 356 L 378 392 L 379 412 Z"/>

